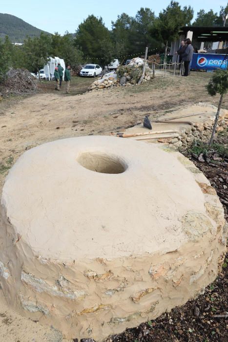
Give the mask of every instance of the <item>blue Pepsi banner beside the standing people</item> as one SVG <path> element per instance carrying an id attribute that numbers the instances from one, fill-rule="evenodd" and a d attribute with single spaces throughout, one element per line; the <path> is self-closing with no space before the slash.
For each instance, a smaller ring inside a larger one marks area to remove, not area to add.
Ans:
<path id="1" fill-rule="evenodd" d="M 193 53 L 191 69 L 195 70 L 216 70 L 216 69 L 227 69 L 228 56 L 219 55 L 216 53 Z"/>

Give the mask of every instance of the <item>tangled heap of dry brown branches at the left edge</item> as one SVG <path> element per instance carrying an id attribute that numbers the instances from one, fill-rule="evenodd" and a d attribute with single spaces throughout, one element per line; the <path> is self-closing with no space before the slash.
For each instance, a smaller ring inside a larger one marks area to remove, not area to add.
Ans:
<path id="1" fill-rule="evenodd" d="M 38 80 L 28 70 L 11 69 L 6 73 L 6 79 L 0 86 L 2 95 L 32 94 L 37 89 Z"/>

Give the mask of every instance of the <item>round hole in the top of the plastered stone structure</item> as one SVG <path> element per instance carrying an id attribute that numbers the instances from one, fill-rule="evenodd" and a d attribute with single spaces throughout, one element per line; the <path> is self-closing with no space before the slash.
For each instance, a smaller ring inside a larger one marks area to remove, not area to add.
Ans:
<path id="1" fill-rule="evenodd" d="M 119 157 L 99 152 L 83 152 L 77 158 L 83 168 L 100 173 L 123 173 L 127 165 Z"/>

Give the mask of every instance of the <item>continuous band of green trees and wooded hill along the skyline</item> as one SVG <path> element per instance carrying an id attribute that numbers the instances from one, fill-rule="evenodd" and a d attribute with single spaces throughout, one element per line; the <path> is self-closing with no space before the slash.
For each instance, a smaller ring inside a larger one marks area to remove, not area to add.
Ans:
<path id="1" fill-rule="evenodd" d="M 52 35 L 15 16 L 0 14 L 0 83 L 11 68 L 38 72 L 48 57 L 58 56 L 77 70 L 80 64 L 96 63 L 104 67 L 113 58 L 122 62 L 144 56 L 145 47 L 148 55 L 166 54 L 183 26 L 228 25 L 228 5 L 221 6 L 219 14 L 201 9 L 194 21 L 193 18 L 191 6 L 171 0 L 157 16 L 153 9 L 141 7 L 135 16 L 118 15 L 108 29 L 103 18 L 91 14 L 75 27 L 75 33 Z M 23 45 L 12 44 L 15 42 Z"/>

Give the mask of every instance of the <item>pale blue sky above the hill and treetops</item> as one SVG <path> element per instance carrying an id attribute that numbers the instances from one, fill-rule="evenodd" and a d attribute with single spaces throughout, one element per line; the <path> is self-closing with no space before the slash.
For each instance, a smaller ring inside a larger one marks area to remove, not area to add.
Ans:
<path id="1" fill-rule="evenodd" d="M 195 17 L 200 9 L 219 12 L 220 6 L 225 7 L 228 0 L 178 2 L 182 7 L 191 5 Z M 105 26 L 110 29 L 111 21 L 116 21 L 117 16 L 124 12 L 134 17 L 140 7 L 149 7 L 158 15 L 169 3 L 170 0 L 0 0 L 0 13 L 12 14 L 43 31 L 62 35 L 65 31 L 74 33 L 78 25 L 91 14 L 102 17 Z"/>

